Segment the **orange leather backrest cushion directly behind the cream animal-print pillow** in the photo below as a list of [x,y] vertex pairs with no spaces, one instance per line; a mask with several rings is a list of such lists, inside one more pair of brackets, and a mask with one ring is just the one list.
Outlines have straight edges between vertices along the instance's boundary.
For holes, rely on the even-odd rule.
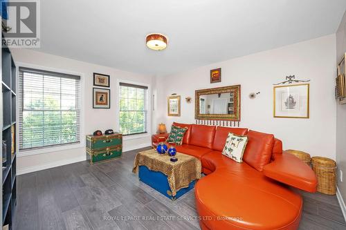
[[248,129],[217,126],[214,142],[212,142],[212,149],[222,151],[226,144],[228,133],[234,133],[235,135],[246,135],[246,133],[248,133]]

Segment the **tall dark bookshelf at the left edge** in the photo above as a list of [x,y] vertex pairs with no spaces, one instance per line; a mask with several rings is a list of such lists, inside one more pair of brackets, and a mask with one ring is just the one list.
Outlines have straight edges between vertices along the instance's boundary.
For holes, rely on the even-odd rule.
[[[6,142],[6,163],[2,168],[2,224],[12,229],[17,206],[17,149],[16,149],[16,66],[7,47],[1,48],[1,86],[3,103],[2,140]],[[13,134],[14,133],[14,134]],[[12,148],[14,142],[14,148]],[[3,144],[1,143],[1,153]]]

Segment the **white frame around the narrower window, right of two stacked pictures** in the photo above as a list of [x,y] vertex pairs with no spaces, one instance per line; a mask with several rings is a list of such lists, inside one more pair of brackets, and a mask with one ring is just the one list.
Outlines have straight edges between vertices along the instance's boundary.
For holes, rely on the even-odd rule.
[[128,81],[125,79],[117,79],[116,85],[117,85],[117,91],[118,92],[117,92],[117,96],[116,96],[116,116],[117,116],[116,120],[118,122],[116,122],[116,130],[118,132],[120,132],[120,83],[147,87],[147,95],[146,95],[146,100],[147,100],[147,132],[122,135],[122,139],[123,140],[132,140],[132,139],[138,139],[138,138],[143,138],[143,137],[149,137],[150,133],[152,133],[152,101],[151,101],[152,90],[151,90],[151,86],[149,84],[145,84],[143,82],[132,82],[132,81]]

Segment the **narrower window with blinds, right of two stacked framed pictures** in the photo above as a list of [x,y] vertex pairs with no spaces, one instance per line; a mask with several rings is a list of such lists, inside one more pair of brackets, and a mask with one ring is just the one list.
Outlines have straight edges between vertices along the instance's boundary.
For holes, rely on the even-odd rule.
[[120,82],[119,124],[122,135],[147,133],[147,86]]

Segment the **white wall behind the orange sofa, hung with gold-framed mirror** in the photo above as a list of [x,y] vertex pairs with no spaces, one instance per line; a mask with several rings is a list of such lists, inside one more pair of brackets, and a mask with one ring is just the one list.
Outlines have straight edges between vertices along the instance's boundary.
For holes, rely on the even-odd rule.
[[[335,35],[304,41],[274,50],[230,59],[203,66],[185,73],[158,77],[159,110],[156,122],[167,127],[174,121],[194,123],[194,90],[241,84],[241,126],[255,131],[273,133],[280,138],[284,149],[294,148],[335,159],[336,103],[334,76],[336,75]],[[210,84],[210,69],[222,68],[221,83]],[[286,75],[311,79],[310,118],[288,119],[273,117],[273,83],[282,82]],[[249,93],[260,91],[255,99]],[[181,117],[167,117],[167,95],[181,95]]]

